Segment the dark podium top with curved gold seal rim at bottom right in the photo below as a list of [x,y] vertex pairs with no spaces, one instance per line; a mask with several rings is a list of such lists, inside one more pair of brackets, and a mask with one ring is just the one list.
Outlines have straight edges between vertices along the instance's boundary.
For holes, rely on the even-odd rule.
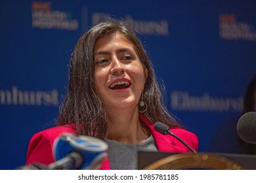
[[256,155],[224,153],[138,152],[138,169],[143,170],[255,170]]

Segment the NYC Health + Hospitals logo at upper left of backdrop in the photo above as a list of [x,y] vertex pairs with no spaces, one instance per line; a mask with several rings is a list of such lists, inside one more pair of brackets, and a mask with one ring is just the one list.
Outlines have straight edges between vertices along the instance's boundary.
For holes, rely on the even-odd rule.
[[70,12],[52,10],[51,2],[33,2],[32,27],[75,31],[79,28],[79,22],[72,17]]

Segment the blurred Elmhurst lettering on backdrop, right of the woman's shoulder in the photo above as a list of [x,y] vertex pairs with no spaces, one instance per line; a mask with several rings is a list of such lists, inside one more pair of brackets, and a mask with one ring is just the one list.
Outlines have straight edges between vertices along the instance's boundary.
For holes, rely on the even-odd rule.
[[198,112],[241,112],[243,97],[212,97],[209,93],[193,96],[186,91],[173,91],[171,92],[171,108]]

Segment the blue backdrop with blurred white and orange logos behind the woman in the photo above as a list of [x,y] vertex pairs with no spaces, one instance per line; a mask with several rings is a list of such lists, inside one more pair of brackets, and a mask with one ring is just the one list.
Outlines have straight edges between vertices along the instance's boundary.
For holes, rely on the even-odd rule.
[[200,152],[240,153],[236,124],[256,74],[256,1],[0,1],[0,169],[54,125],[80,35],[107,16],[140,32],[165,104]]

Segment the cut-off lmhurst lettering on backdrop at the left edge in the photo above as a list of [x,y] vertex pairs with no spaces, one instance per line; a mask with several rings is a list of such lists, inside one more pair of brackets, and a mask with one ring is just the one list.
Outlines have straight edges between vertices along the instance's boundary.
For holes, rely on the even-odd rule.
[[0,90],[0,105],[58,106],[58,90],[28,91],[12,86],[11,90]]

